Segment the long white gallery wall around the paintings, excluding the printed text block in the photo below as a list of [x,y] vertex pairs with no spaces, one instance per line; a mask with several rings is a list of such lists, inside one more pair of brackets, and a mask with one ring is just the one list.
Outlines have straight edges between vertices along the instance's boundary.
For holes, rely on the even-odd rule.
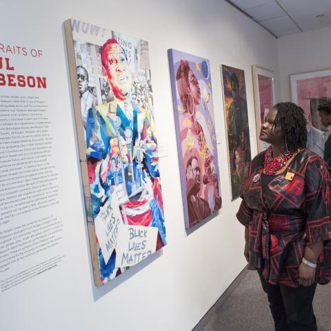
[[[5,3],[6,2],[6,3]],[[1,43],[43,50],[49,91],[58,124],[61,210],[66,219],[66,259],[0,294],[0,330],[191,330],[245,266],[243,227],[230,201],[221,92],[221,63],[245,70],[252,155],[257,152],[251,66],[278,77],[277,40],[221,0],[1,1]],[[152,85],[161,159],[168,245],[112,283],[95,288],[83,199],[63,21],[79,19],[141,39],[150,46]],[[168,70],[168,48],[210,59],[223,208],[187,234],[177,159]],[[279,85],[276,86],[279,99]],[[142,268],[146,266],[146,268]],[[245,300],[245,298],[243,298]]]

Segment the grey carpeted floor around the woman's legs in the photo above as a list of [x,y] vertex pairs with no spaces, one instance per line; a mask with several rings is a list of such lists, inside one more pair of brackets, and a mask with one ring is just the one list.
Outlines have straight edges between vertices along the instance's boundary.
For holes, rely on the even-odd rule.
[[[314,312],[319,331],[331,331],[331,284],[318,285]],[[243,270],[192,331],[273,331],[257,272]]]

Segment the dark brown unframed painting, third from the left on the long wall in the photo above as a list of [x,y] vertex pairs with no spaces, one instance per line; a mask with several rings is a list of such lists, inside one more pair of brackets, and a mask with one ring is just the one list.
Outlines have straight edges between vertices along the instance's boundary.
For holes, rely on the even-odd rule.
[[240,196],[251,160],[243,70],[221,66],[232,200]]

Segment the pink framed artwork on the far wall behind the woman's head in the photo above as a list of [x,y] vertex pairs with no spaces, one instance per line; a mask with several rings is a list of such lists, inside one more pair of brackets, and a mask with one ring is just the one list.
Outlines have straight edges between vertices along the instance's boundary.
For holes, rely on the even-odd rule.
[[321,123],[317,108],[331,101],[331,69],[290,75],[292,101],[305,111],[308,119],[308,148],[323,158],[330,128]]

